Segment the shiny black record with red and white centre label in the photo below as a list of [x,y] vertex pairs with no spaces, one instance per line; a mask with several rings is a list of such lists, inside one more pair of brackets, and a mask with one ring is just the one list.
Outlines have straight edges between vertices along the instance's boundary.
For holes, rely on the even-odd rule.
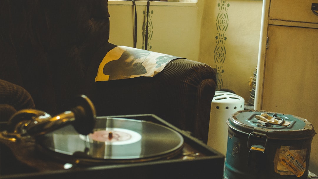
[[38,149],[53,157],[87,162],[139,162],[171,157],[183,147],[176,131],[148,121],[98,119],[93,134],[66,126],[37,139]]

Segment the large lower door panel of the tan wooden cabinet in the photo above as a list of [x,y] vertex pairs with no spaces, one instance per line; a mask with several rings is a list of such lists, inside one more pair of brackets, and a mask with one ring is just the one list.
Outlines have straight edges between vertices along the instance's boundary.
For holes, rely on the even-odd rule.
[[318,29],[268,26],[261,108],[309,121],[318,116]]

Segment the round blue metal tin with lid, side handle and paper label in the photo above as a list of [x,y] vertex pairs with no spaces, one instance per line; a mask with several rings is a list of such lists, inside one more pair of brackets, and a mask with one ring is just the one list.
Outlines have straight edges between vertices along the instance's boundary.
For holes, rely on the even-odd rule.
[[[290,123],[268,124],[257,115],[266,113]],[[290,114],[243,110],[227,120],[225,176],[228,179],[306,179],[315,135],[312,124]]]

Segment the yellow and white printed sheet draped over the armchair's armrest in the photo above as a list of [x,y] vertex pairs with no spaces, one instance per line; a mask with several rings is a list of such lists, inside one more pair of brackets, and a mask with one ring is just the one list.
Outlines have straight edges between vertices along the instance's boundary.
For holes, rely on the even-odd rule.
[[117,46],[110,50],[100,63],[95,81],[140,76],[153,77],[171,60],[179,58],[132,47]]

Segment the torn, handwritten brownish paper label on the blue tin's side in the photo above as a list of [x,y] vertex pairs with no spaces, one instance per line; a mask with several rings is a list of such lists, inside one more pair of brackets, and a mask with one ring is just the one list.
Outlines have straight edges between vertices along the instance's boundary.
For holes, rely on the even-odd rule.
[[289,146],[281,146],[275,155],[275,172],[280,175],[296,175],[301,177],[306,170],[307,149],[290,150]]

